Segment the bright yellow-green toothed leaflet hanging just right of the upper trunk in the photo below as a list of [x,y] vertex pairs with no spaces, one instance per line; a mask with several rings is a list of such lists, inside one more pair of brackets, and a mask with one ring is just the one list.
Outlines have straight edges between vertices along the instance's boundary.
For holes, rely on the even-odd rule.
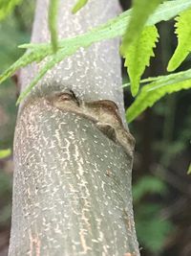
[[154,57],[153,48],[158,41],[158,30],[155,26],[145,27],[138,38],[125,51],[125,66],[131,81],[132,95],[138,94],[139,81],[146,66],[149,66],[150,58]]

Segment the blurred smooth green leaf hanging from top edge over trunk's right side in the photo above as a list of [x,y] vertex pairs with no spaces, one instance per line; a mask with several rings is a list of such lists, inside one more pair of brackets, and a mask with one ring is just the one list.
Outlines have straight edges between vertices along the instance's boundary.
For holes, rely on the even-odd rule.
[[128,51],[128,47],[131,43],[141,34],[150,14],[157,9],[161,2],[162,0],[133,0],[131,19],[120,47],[120,52],[123,56],[125,52]]

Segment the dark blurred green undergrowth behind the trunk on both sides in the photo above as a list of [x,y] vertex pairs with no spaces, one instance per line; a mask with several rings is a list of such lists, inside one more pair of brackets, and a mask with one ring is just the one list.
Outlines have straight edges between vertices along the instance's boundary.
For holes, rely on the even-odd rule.
[[[121,0],[124,10],[131,2]],[[30,41],[34,0],[25,0],[0,23],[0,74],[19,58],[17,45]],[[158,25],[156,58],[144,77],[165,75],[177,38],[174,21]],[[180,70],[190,68],[186,58]],[[127,82],[123,69],[123,81]],[[0,150],[12,149],[18,89],[13,80],[0,86]],[[125,106],[134,101],[124,89]],[[164,97],[130,124],[137,145],[133,170],[135,221],[142,256],[191,255],[191,91]],[[12,156],[0,159],[0,256],[8,254],[11,228]]]

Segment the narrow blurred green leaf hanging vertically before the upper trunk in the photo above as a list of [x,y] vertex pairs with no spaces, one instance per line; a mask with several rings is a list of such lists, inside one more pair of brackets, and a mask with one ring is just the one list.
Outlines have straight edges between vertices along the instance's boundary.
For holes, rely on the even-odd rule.
[[58,10],[58,0],[51,0],[49,7],[49,30],[51,32],[51,41],[53,46],[53,52],[57,51],[57,10]]

